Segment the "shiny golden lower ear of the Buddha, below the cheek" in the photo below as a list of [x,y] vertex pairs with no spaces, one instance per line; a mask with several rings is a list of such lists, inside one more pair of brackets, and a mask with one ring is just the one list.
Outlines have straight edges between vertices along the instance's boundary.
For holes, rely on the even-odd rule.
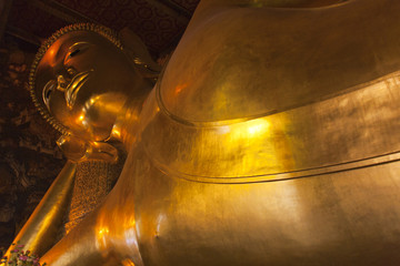
[[72,135],[62,135],[57,141],[67,158],[73,162],[99,160],[108,163],[118,161],[118,150],[106,142],[88,142]]

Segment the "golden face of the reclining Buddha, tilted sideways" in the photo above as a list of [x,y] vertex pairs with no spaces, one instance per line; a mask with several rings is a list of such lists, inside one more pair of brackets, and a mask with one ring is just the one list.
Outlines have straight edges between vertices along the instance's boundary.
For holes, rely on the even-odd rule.
[[140,80],[108,39],[72,31],[60,37],[39,62],[36,93],[72,134],[102,141],[109,137],[127,95],[139,90]]

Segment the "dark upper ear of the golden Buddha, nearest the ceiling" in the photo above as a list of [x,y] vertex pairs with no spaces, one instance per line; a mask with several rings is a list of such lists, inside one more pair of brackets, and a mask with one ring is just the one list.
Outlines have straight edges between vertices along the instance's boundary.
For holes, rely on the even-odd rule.
[[161,66],[156,63],[144,43],[129,28],[119,32],[119,39],[128,58],[134,63],[139,72],[149,79],[156,79],[160,74]]

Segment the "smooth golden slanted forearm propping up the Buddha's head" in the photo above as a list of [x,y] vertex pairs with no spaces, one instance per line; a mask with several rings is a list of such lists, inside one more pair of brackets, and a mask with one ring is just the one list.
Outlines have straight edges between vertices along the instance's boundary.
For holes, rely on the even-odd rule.
[[[17,235],[14,243],[24,245],[23,249],[43,255],[56,242],[57,233],[62,225],[64,211],[70,202],[73,186],[76,163],[67,162],[46,193],[28,222]],[[10,255],[10,247],[7,256]]]

